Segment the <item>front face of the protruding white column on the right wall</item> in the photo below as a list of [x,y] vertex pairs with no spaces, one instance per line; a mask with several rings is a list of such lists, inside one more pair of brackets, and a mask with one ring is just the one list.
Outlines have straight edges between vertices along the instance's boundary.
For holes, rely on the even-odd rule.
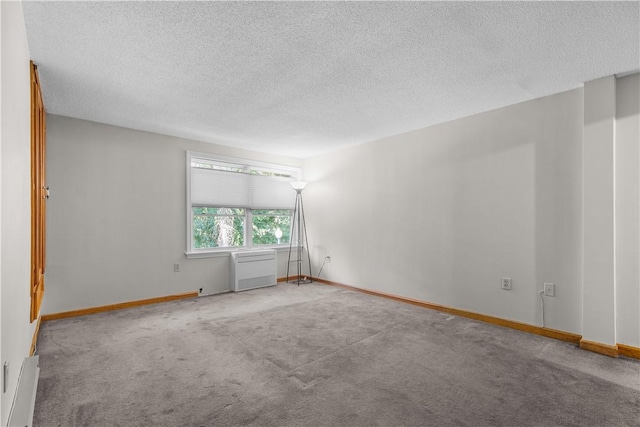
[[616,344],[615,289],[616,79],[584,86],[582,339]]

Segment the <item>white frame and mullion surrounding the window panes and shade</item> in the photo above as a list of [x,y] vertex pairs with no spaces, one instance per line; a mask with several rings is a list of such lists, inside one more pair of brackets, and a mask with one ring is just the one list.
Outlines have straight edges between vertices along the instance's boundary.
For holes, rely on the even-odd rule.
[[[262,162],[258,160],[242,159],[238,157],[219,156],[211,153],[202,153],[195,151],[186,151],[186,252],[187,258],[211,258],[219,256],[228,256],[231,252],[252,250],[252,249],[276,249],[279,251],[288,250],[290,243],[281,243],[273,245],[253,245],[253,210],[248,207],[225,206],[227,208],[243,208],[244,216],[244,246],[233,246],[223,248],[195,248],[193,245],[193,204],[191,202],[191,163],[193,159],[201,159],[217,164],[229,164],[233,168],[260,169],[271,172],[286,172],[290,174],[292,181],[300,181],[302,179],[302,169],[296,166],[281,165],[277,163]],[[295,201],[295,192],[291,190],[291,215],[293,216],[293,204]],[[262,210],[262,209],[257,209]],[[297,246],[296,246],[297,247]]]

